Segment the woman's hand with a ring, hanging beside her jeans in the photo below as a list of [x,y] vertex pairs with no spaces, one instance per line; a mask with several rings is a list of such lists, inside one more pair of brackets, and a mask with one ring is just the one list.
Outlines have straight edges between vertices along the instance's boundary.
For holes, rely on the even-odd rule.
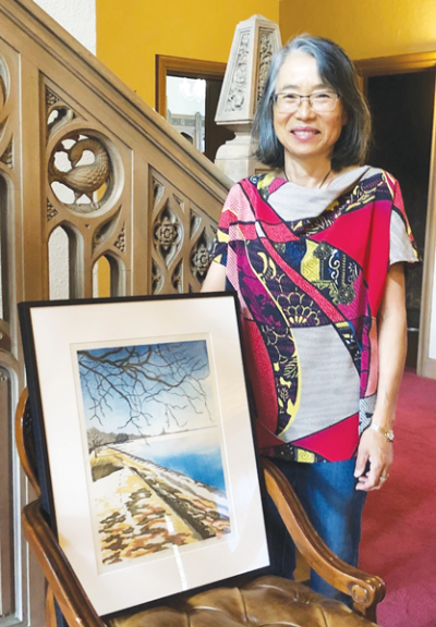
[[[354,477],[359,477],[356,490],[379,490],[387,478],[393,460],[393,447],[383,433],[366,429],[358,450]],[[367,463],[370,469],[366,471]]]

